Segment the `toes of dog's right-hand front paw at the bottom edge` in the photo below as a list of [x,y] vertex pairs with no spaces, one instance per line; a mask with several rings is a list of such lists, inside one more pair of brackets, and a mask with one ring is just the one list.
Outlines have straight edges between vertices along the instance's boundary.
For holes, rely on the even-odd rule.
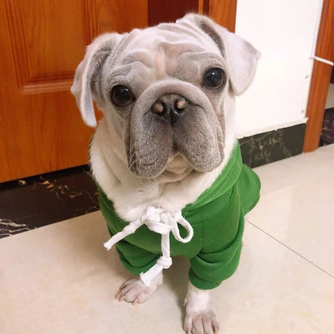
[[216,334],[219,324],[213,310],[186,312],[184,331],[186,334]]

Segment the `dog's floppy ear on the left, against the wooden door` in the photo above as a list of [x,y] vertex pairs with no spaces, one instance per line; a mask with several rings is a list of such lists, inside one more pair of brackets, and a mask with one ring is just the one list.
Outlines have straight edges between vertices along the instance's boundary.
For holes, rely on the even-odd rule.
[[[97,74],[102,69],[106,57],[111,54],[113,47],[120,40],[118,33],[104,33],[95,38],[92,44],[88,45],[84,60],[78,65],[75,71],[71,93],[77,100],[77,105],[86,125],[96,126],[96,118],[93,107],[95,81]],[[96,93],[96,92],[95,92]]]

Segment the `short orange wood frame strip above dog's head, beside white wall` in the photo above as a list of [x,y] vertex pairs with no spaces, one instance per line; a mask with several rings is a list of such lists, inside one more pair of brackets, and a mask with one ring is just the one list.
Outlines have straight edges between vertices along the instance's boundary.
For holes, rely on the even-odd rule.
[[209,17],[229,31],[235,31],[237,0],[210,0]]

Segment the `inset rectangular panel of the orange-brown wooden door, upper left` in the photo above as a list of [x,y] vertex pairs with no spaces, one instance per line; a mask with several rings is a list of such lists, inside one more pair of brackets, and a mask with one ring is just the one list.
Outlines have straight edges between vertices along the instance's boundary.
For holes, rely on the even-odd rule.
[[56,6],[56,2],[22,1],[17,6],[15,1],[4,1],[15,78],[23,94],[69,88],[81,46],[87,42],[82,34],[71,38],[71,52],[64,57],[68,40],[62,36],[81,26],[81,17],[74,15],[67,21],[63,11],[81,12],[82,8],[74,1],[63,1],[61,6]]

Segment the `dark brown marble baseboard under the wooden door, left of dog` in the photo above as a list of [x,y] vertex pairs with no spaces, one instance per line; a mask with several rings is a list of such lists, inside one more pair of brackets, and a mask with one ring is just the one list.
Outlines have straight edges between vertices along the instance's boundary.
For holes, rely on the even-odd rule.
[[0,237],[97,211],[88,166],[0,184]]

